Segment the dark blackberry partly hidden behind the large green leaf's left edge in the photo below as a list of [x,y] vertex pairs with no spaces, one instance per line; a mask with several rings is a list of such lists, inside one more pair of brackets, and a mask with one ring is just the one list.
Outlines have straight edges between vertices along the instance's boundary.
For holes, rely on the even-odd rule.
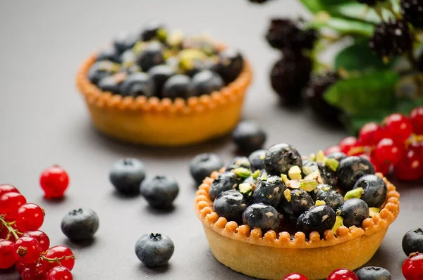
[[321,118],[321,120],[333,125],[341,125],[339,116],[342,111],[329,104],[323,96],[326,90],[338,79],[339,75],[334,72],[326,73],[326,75],[314,76],[305,91],[305,99],[312,108],[314,114]]

